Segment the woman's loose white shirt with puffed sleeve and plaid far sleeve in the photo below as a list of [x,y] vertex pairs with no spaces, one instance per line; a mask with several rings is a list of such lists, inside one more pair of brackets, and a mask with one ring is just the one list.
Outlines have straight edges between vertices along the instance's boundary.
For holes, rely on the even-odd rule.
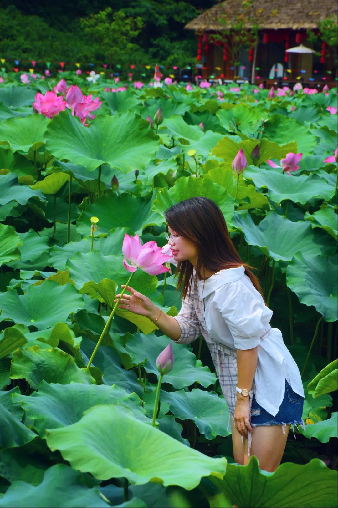
[[[204,281],[199,280],[197,289],[199,302],[196,302],[196,297],[194,302],[194,297],[190,296],[175,316],[182,332],[184,330],[178,342],[192,342],[203,331],[203,327],[197,330],[196,320],[202,324],[201,302],[204,300],[207,334],[203,333],[203,336],[207,342],[211,340],[223,344],[232,351],[258,346],[253,385],[258,404],[275,416],[284,398],[285,379],[296,393],[304,397],[297,364],[283,342],[281,331],[271,328],[269,323],[273,312],[245,275],[244,267],[220,270]],[[193,306],[196,313],[189,323],[188,316]]]

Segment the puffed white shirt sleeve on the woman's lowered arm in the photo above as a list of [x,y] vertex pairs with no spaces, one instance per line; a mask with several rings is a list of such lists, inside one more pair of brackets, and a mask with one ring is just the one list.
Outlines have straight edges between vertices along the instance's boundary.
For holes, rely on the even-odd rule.
[[217,307],[239,350],[256,347],[267,331],[262,323],[264,301],[241,281],[226,284],[217,295]]

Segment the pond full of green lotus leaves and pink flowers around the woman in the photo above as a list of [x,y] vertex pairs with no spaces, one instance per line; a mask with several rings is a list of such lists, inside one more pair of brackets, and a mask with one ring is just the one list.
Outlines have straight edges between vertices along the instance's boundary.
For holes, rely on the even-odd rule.
[[[0,506],[336,506],[337,89],[26,81],[0,83]],[[163,247],[164,211],[194,196],[220,206],[302,373],[306,430],[274,473],[234,463],[201,339],[172,344],[152,426],[171,341],[125,309],[105,329],[125,235]],[[132,285],[179,311],[174,275]]]

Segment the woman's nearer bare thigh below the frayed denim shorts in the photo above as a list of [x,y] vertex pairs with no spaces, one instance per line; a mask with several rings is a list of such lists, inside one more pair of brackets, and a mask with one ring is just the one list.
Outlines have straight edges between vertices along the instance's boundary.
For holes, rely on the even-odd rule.
[[[281,463],[290,425],[286,425],[284,430],[285,434],[282,425],[253,427],[250,455],[256,455],[259,467],[264,471],[273,472]],[[248,440],[244,439],[244,443],[244,465],[246,465],[249,462]]]

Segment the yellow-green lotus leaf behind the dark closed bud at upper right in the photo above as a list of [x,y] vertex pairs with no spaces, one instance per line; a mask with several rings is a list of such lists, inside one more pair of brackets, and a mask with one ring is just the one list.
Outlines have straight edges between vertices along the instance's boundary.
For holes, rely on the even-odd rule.
[[[251,153],[257,144],[259,147],[260,157],[258,161],[254,162],[251,158]],[[249,166],[255,163],[259,166],[272,157],[282,159],[287,153],[296,152],[297,143],[291,142],[280,146],[279,144],[273,143],[266,138],[263,138],[259,142],[247,139],[245,141],[241,141],[240,143],[235,143],[232,139],[225,137],[217,143],[211,153],[217,157],[222,157],[226,163],[232,163],[240,148],[243,148]]]

